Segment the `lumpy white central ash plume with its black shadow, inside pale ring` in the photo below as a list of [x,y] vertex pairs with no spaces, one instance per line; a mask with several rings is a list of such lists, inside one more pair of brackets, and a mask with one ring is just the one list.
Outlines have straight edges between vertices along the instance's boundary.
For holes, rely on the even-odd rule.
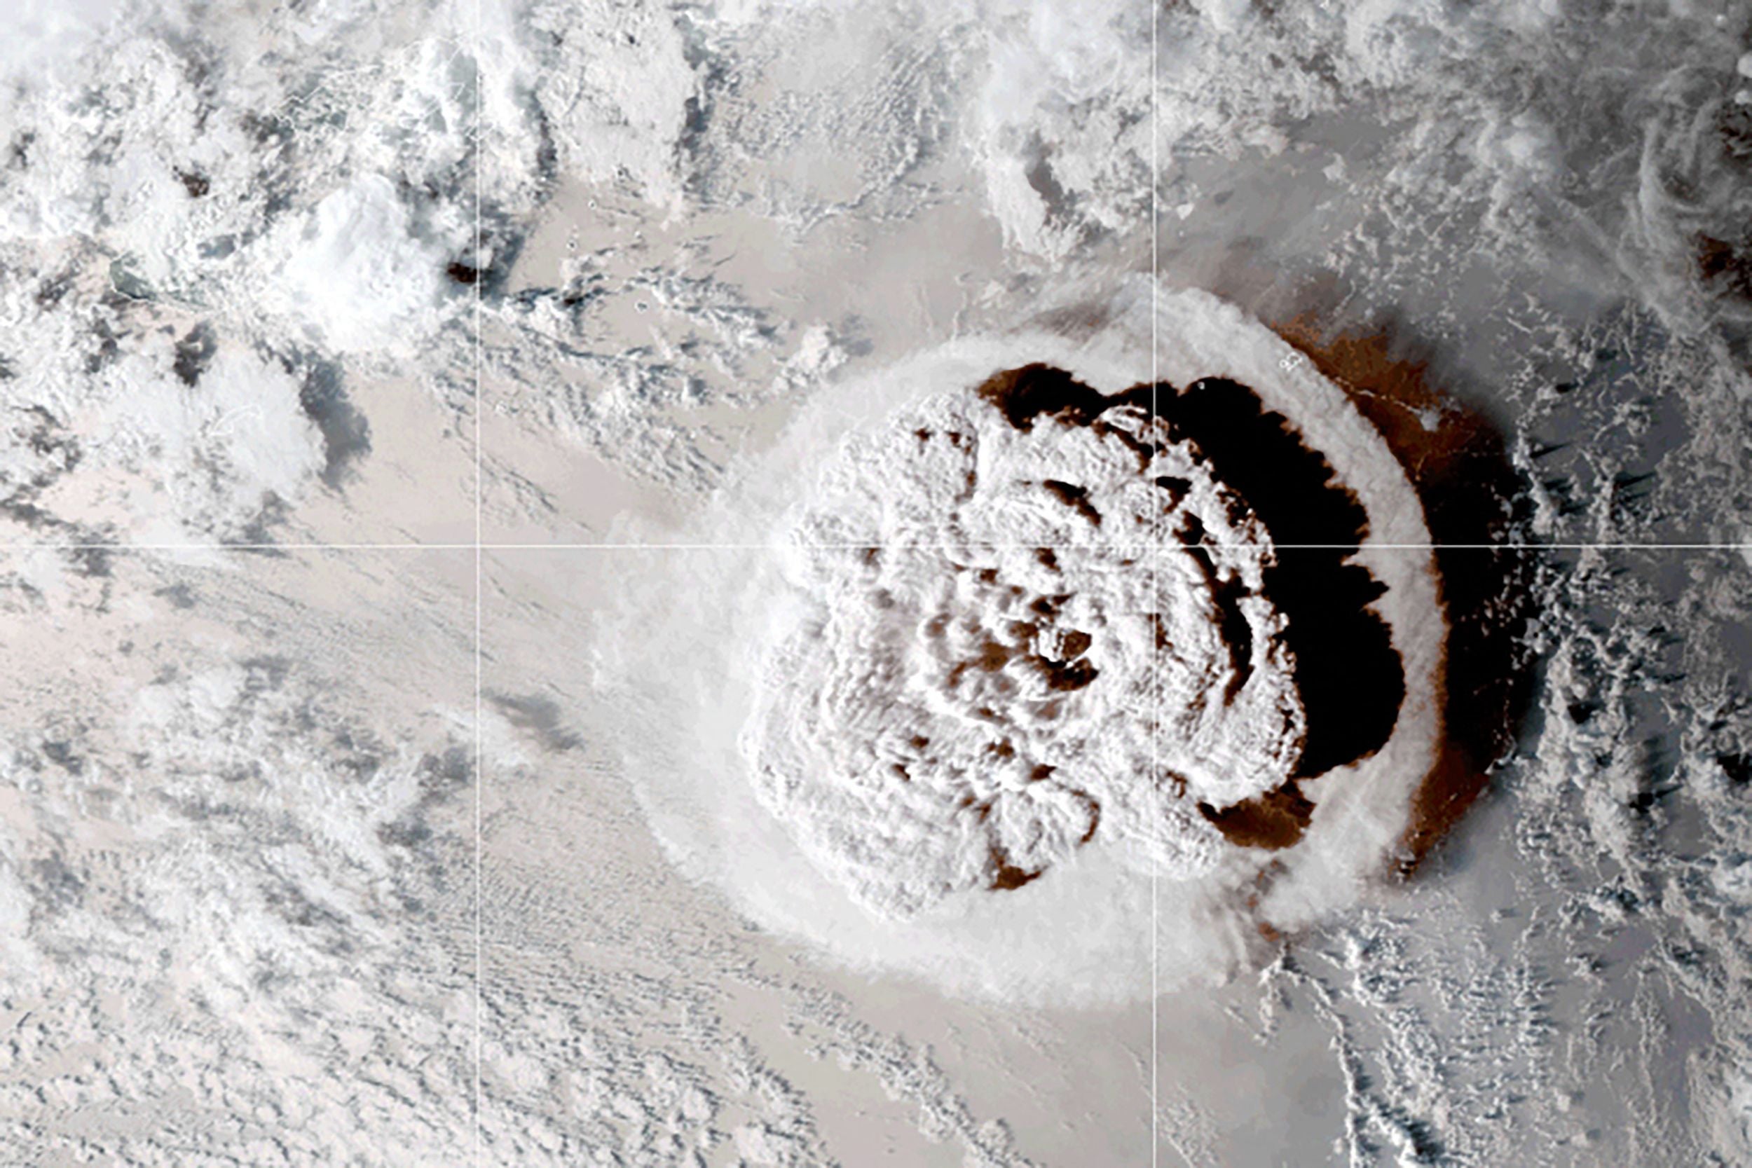
[[934,396],[795,520],[813,602],[767,662],[757,792],[895,918],[1093,844],[1177,879],[1295,844],[1298,781],[1379,749],[1403,697],[1346,562],[1365,527],[1232,380],[1104,396],[1032,364]]

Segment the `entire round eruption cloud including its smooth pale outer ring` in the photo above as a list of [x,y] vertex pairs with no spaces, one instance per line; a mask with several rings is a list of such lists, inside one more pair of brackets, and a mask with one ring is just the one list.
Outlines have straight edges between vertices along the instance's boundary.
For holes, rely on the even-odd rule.
[[671,856],[853,967],[1041,1002],[1219,975],[1426,846],[1430,776],[1461,806],[1377,424],[1205,294],[1081,329],[823,394],[601,637],[624,723],[678,727],[620,744]]

